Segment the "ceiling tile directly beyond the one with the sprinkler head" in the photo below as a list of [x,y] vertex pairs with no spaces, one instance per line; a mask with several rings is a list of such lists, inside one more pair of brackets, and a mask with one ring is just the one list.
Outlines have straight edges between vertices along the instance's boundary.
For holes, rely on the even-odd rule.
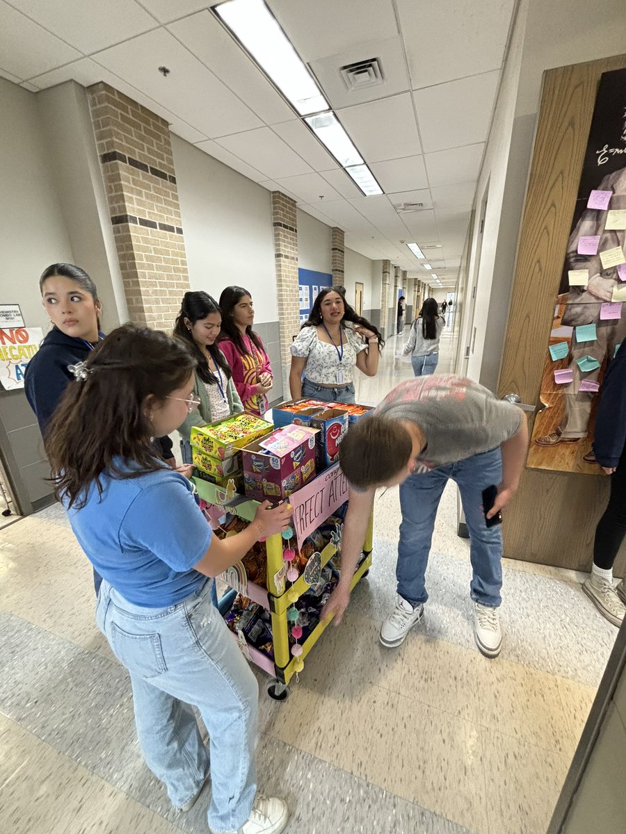
[[270,128],[222,136],[218,144],[244,162],[265,173],[264,179],[295,177],[311,173],[311,168]]

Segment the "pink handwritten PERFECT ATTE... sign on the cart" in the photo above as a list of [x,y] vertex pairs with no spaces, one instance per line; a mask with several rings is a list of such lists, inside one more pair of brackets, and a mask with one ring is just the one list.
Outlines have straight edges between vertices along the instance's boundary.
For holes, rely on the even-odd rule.
[[301,548],[305,538],[348,500],[349,489],[346,475],[339,464],[335,464],[289,496],[298,547]]

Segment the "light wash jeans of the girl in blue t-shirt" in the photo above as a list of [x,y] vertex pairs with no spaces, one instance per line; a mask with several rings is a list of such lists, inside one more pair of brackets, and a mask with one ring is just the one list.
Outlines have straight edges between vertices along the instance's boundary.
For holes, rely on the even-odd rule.
[[193,704],[210,735],[209,825],[236,831],[255,799],[259,688],[211,601],[212,585],[178,605],[144,608],[103,581],[96,621],[130,673],[139,743],[172,804],[189,801],[209,771]]

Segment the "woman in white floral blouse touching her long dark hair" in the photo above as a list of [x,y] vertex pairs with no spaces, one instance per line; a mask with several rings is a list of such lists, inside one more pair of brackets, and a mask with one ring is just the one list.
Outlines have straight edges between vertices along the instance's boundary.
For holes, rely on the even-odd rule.
[[343,287],[325,287],[291,344],[291,396],[354,403],[354,369],[376,376],[383,344],[379,330],[348,304]]

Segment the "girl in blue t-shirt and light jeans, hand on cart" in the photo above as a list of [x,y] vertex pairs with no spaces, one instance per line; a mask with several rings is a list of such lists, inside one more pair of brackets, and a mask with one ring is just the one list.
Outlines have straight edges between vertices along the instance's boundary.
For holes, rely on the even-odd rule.
[[57,493],[103,576],[96,620],[133,686],[145,760],[178,808],[209,774],[194,712],[210,735],[210,830],[278,834],[285,802],[255,796],[258,687],[210,599],[212,577],[284,530],[289,505],[260,505],[246,530],[213,536],[188,480],[152,439],[196,407],[195,359],[155,330],[119,327],[73,367],[46,446]]

